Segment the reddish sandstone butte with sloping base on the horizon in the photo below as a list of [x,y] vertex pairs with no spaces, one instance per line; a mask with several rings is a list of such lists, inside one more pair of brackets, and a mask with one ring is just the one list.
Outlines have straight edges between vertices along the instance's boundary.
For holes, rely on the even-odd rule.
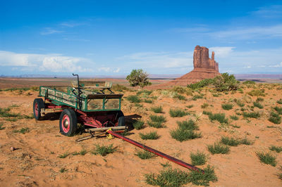
[[209,58],[209,49],[207,47],[195,47],[193,65],[194,70],[169,82],[169,84],[187,86],[188,84],[199,82],[202,79],[211,79],[220,75],[219,63],[216,63],[214,60],[214,51],[212,51],[212,59]]

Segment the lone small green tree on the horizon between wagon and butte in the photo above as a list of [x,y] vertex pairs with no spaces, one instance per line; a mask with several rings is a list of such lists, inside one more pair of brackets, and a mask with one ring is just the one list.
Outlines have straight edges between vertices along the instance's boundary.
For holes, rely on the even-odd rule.
[[147,72],[143,72],[143,70],[132,70],[130,75],[126,77],[130,86],[140,86],[143,88],[144,86],[149,86],[152,83],[149,82],[149,77]]

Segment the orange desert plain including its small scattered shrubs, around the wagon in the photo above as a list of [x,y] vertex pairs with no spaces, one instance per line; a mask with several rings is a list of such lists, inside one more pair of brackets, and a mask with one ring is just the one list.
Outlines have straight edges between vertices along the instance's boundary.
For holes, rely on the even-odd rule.
[[[124,79],[111,81],[113,90],[124,94],[121,110],[130,127],[126,137],[188,163],[190,153],[204,153],[207,162],[197,167],[214,168],[217,180],[210,181],[210,186],[282,186],[282,152],[270,150],[271,146],[282,146],[282,124],[269,121],[271,112],[278,112],[274,108],[282,108],[281,83],[241,83],[240,90],[219,92],[209,86],[196,90],[179,86],[154,89],[154,85],[166,80],[153,80],[150,90],[133,89]],[[32,117],[32,103],[38,98],[37,87],[68,83],[67,79],[0,79],[1,186],[150,186],[147,174],[159,174],[166,169],[190,172],[162,157],[141,159],[137,156],[140,148],[118,138],[109,140],[102,136],[76,142],[87,134],[60,134],[59,114],[36,121]],[[132,96],[138,101],[128,99]],[[224,109],[226,104],[231,105],[228,110]],[[153,111],[156,107],[162,108],[161,113]],[[172,117],[171,110],[184,114]],[[226,121],[211,120],[211,113],[224,114]],[[257,115],[246,115],[250,113]],[[165,118],[161,128],[149,126],[152,115]],[[136,120],[144,122],[142,129],[134,128]],[[173,138],[171,132],[178,128],[178,123],[189,120],[195,122],[195,132],[200,136],[185,141]],[[140,133],[149,132],[157,132],[159,137],[140,137]],[[208,147],[221,142],[222,137],[247,139],[250,145],[228,146],[228,153],[212,154]],[[111,144],[114,153],[93,154],[97,145]],[[276,164],[261,162],[258,153],[269,153]]]

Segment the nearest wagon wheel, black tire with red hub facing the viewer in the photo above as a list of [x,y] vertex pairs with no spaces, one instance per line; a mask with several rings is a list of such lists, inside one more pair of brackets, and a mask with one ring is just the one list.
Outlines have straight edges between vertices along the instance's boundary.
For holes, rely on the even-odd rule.
[[78,129],[78,119],[75,111],[72,109],[65,109],[60,116],[60,132],[65,136],[73,136]]

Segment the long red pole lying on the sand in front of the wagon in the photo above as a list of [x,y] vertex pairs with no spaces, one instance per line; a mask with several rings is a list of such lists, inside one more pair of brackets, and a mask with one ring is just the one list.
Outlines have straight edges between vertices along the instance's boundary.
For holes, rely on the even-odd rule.
[[127,141],[129,143],[132,143],[134,146],[137,146],[139,148],[142,148],[142,149],[145,149],[151,153],[154,153],[156,155],[159,155],[160,157],[164,157],[166,158],[167,160],[170,160],[171,162],[174,162],[182,167],[185,167],[185,168],[188,168],[188,169],[191,169],[191,170],[194,170],[194,171],[197,171],[197,172],[202,172],[204,174],[204,171],[200,168],[197,168],[193,165],[189,165],[188,163],[186,162],[183,162],[182,160],[178,160],[177,158],[175,157],[171,157],[170,155],[166,155],[165,153],[161,153],[159,150],[155,150],[153,148],[149,148],[148,146],[145,146],[141,143],[138,143],[137,141],[133,141],[132,139],[130,138],[126,138],[125,136],[121,136],[121,134],[117,134],[116,132],[114,131],[111,131],[110,129],[106,131],[107,133],[113,135],[113,136],[116,136],[117,138],[121,138],[123,139],[124,141]]

